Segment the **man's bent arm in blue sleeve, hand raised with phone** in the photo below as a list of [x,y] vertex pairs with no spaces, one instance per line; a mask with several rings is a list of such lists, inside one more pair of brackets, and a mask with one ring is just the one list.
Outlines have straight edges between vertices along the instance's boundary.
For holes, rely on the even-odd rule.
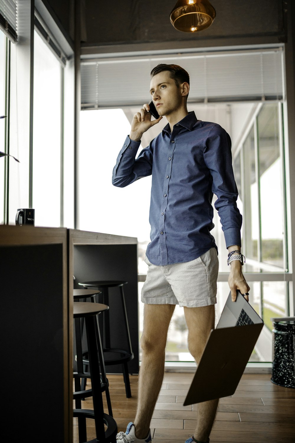
[[144,105],[140,112],[134,115],[130,135],[126,138],[113,169],[112,183],[114,186],[125,187],[152,173],[153,149],[151,144],[143,149],[138,158],[135,159],[142,134],[162,118],[151,121],[151,114],[148,113],[148,109],[149,105]]

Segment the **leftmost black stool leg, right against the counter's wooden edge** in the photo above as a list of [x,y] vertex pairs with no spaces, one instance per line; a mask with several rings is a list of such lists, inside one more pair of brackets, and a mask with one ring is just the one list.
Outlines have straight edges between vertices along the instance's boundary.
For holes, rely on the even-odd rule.
[[[82,343],[81,343],[81,323],[80,319],[74,319],[75,323],[75,341],[77,354],[77,372],[83,372],[83,357],[82,357]],[[83,381],[83,379],[82,379]],[[75,391],[80,391],[80,378],[75,377]],[[75,408],[81,409],[81,399],[75,399]],[[78,417],[79,442],[86,441],[86,418]]]

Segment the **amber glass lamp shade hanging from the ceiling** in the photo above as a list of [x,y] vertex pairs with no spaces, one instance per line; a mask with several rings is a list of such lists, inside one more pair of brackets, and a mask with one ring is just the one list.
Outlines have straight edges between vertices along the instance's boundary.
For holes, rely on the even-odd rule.
[[170,14],[170,21],[178,31],[196,32],[209,27],[216,11],[209,0],[178,0]]

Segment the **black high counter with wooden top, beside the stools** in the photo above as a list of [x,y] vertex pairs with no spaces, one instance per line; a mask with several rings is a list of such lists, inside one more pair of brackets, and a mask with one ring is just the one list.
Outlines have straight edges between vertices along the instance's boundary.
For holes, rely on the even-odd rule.
[[[5,441],[70,443],[73,281],[75,285],[83,280],[128,281],[126,309],[134,350],[130,372],[138,373],[137,239],[0,225],[0,275],[0,350],[6,369],[0,435]],[[110,301],[110,313],[115,309]],[[113,330],[116,334],[116,325]],[[15,427],[8,426],[11,420]]]

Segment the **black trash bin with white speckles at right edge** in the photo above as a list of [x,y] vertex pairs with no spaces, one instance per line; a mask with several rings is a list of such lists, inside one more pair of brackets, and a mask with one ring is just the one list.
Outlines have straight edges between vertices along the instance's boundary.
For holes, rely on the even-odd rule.
[[272,383],[295,388],[295,317],[271,319]]

